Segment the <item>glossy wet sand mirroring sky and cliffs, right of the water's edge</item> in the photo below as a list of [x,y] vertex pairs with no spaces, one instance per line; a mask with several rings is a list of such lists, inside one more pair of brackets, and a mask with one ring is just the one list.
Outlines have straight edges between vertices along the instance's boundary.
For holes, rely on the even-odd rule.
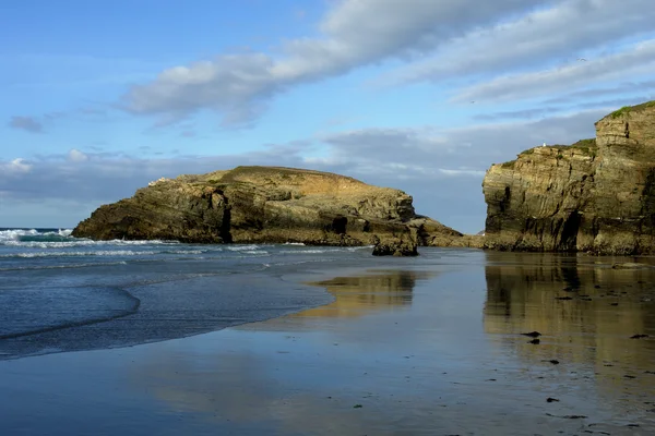
[[289,275],[334,302],[263,323],[0,362],[0,434],[655,434],[654,269],[452,253]]

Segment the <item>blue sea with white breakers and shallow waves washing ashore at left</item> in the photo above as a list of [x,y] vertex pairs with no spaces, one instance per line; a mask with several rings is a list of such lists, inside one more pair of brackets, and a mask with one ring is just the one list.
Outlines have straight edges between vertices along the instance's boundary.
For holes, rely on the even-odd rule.
[[370,246],[92,241],[71,232],[0,228],[0,360],[128,347],[299,312],[332,301],[306,283],[321,271],[385,262]]

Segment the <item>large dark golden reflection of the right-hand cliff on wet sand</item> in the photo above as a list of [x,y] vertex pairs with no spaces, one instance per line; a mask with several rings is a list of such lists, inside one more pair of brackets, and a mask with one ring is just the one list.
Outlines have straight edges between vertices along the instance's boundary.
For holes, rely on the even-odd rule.
[[[590,256],[488,253],[485,330],[533,365],[560,362],[624,407],[653,409],[655,269]],[[521,332],[543,334],[538,344]],[[634,335],[650,338],[631,339]],[[565,365],[565,366],[564,366]]]

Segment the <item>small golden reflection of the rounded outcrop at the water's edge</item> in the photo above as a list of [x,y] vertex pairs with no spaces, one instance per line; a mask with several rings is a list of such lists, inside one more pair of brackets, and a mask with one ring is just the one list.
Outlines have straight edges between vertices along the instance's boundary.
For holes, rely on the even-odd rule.
[[334,296],[331,304],[303,311],[291,317],[356,317],[412,304],[417,280],[433,277],[430,272],[377,270],[361,277],[336,277],[315,284]]

